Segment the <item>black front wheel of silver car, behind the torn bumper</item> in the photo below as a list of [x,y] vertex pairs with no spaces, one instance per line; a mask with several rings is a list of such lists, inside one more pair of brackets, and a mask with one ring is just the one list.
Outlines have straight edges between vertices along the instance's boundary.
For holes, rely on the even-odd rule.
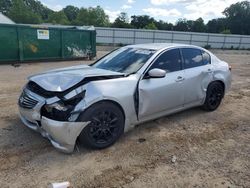
[[121,109],[108,101],[92,105],[78,121],[90,121],[82,130],[79,141],[93,149],[111,146],[124,132],[125,118]]

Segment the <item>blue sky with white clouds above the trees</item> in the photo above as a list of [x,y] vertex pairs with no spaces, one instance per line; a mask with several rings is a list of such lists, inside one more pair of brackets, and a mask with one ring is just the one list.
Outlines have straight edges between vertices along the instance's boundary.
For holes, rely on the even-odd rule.
[[59,11],[67,5],[76,7],[96,7],[100,5],[109,15],[111,22],[121,12],[128,16],[149,15],[156,20],[175,23],[179,18],[205,22],[223,17],[222,12],[240,0],[40,0],[48,8]]

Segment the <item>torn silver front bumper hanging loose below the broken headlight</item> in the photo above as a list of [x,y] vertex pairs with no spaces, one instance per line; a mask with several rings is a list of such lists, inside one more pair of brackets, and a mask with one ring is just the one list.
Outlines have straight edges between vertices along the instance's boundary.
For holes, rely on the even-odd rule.
[[[29,92],[29,94],[38,99],[33,93]],[[41,116],[40,109],[44,103],[44,100],[40,99],[38,104],[32,109],[23,108],[19,105],[22,122],[30,129],[39,132],[43,137],[49,139],[51,144],[59,151],[72,153],[77,137],[89,122],[56,121]]]

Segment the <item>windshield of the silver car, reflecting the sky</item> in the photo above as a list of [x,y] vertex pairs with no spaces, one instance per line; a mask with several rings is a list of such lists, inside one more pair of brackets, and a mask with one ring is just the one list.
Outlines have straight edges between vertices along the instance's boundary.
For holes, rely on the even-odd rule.
[[140,48],[120,48],[98,60],[92,66],[126,74],[137,72],[155,50]]

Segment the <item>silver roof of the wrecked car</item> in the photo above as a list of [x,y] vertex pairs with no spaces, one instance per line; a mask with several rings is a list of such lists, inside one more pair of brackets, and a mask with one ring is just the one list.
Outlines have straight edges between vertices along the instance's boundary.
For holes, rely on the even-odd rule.
[[200,48],[198,46],[188,45],[188,44],[176,44],[176,43],[147,43],[147,44],[134,44],[126,46],[128,48],[142,48],[149,50],[162,50],[172,47],[192,47],[192,48]]

